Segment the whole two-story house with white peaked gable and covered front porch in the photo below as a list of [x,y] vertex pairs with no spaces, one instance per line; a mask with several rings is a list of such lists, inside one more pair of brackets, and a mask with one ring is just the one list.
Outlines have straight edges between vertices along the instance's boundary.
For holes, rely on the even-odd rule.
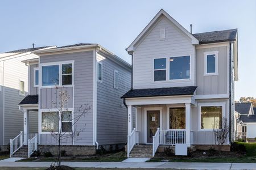
[[[230,149],[237,29],[192,34],[160,10],[126,50],[133,63],[132,89],[122,96],[128,107],[127,156],[154,156],[159,145],[217,148],[213,128],[222,128],[224,120],[230,133],[221,148]],[[148,145],[139,150],[144,155],[135,144]]]

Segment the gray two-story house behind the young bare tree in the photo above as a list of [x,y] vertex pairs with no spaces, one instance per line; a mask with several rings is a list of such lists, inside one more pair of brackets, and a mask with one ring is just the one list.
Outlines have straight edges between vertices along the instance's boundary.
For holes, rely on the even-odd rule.
[[[127,109],[120,98],[131,87],[131,65],[98,44],[75,44],[34,52],[39,58],[23,61],[29,65],[30,86],[28,96],[20,103],[24,121],[30,114],[38,116],[39,147],[56,145],[49,131],[57,131],[60,125],[51,118],[59,113],[56,86],[68,91],[67,115],[76,117],[76,109],[83,104],[90,106],[85,117],[75,124],[81,131],[77,138],[65,138],[62,145],[90,146],[112,145],[115,149],[125,145],[127,139]],[[66,113],[65,113],[66,114]],[[72,133],[73,121],[63,133]],[[24,124],[24,145],[27,145],[31,129]],[[93,154],[94,152],[90,152]],[[69,152],[70,154],[71,152]],[[76,154],[76,153],[74,153]],[[86,154],[84,152],[84,154]]]

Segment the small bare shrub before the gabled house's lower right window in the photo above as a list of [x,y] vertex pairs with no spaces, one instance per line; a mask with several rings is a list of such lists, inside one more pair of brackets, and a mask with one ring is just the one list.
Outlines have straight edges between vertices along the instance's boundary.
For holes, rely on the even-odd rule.
[[219,120],[216,120],[214,122],[213,134],[214,134],[215,144],[223,145],[227,141],[228,135],[229,135],[229,125],[228,125],[228,120],[226,118],[224,118],[222,123]]

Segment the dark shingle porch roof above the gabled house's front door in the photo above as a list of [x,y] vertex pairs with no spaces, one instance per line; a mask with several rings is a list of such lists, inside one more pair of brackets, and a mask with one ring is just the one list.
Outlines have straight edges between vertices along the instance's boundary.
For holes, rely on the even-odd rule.
[[121,98],[193,95],[196,88],[197,86],[134,89],[127,92]]

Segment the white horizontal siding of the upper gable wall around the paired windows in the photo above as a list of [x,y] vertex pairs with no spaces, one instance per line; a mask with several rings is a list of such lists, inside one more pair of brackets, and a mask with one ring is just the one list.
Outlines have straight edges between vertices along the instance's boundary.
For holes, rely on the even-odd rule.
[[[160,39],[162,28],[165,28],[164,39]],[[195,46],[192,45],[191,38],[165,16],[162,16],[135,46],[133,52],[134,89],[195,86]],[[168,80],[169,62],[167,62],[167,80],[154,82],[154,58],[179,56],[190,56],[190,79]]]

